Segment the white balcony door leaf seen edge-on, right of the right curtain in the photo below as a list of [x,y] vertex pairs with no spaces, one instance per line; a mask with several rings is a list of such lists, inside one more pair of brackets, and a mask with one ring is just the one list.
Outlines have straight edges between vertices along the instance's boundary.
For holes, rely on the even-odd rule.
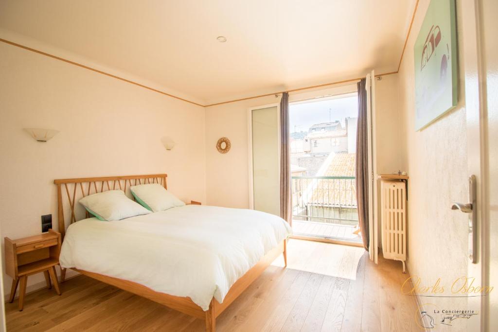
[[368,130],[368,173],[369,173],[369,255],[378,262],[378,218],[377,218],[377,167],[375,148],[375,73],[367,74],[367,130]]

